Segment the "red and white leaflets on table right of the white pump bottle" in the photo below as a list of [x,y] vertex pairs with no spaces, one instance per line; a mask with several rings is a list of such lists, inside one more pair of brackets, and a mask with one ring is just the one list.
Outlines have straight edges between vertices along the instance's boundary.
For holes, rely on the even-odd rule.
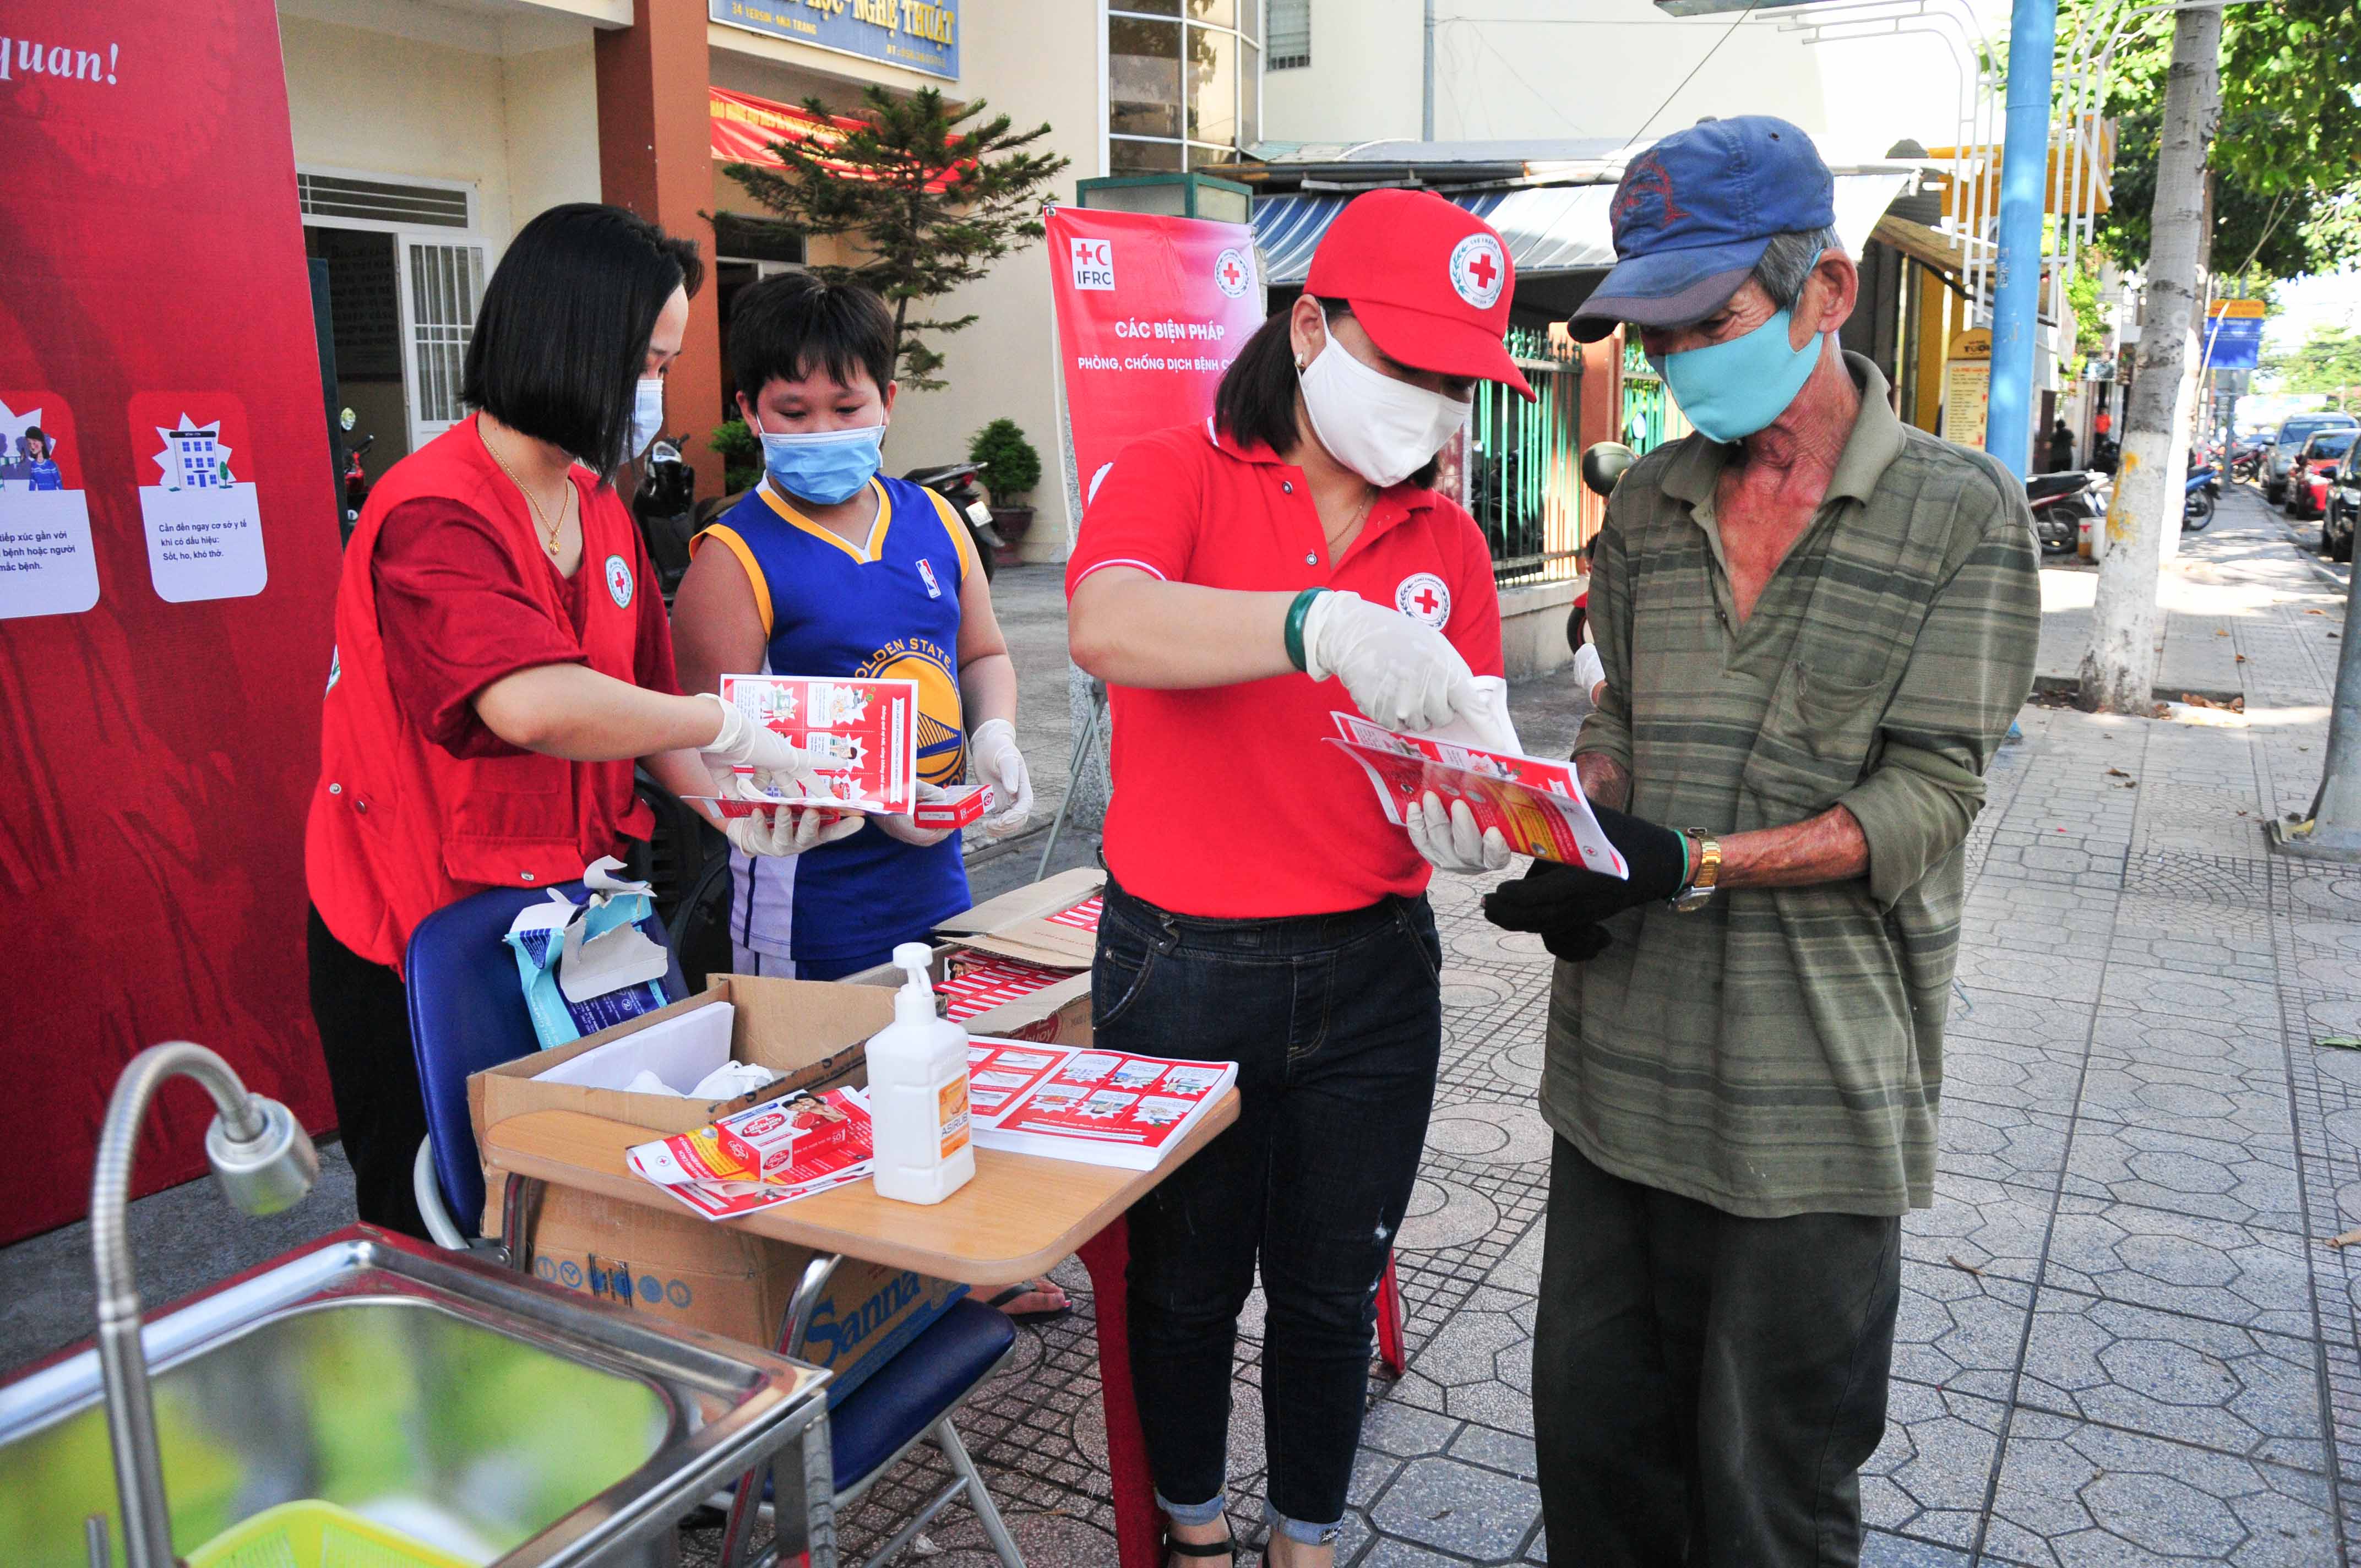
[[1018,1155],[1155,1169],[1237,1082],[1237,1063],[1065,1051],[975,1143]]

